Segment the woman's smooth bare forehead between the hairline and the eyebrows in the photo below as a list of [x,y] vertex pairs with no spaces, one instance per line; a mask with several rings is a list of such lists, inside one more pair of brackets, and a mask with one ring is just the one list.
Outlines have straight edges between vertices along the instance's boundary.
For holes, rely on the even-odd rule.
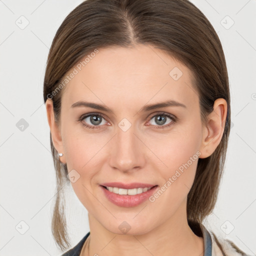
[[123,107],[131,102],[173,99],[189,105],[198,100],[191,84],[192,72],[153,46],[99,48],[84,60],[70,69],[76,74],[62,96],[69,105],[78,100],[121,102]]

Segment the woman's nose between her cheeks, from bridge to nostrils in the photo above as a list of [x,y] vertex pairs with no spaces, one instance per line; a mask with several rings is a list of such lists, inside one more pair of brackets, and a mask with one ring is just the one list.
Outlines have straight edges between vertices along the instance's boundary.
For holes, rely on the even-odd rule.
[[111,140],[110,166],[122,172],[142,168],[145,164],[145,145],[133,125],[127,130],[120,127],[117,127],[116,134]]

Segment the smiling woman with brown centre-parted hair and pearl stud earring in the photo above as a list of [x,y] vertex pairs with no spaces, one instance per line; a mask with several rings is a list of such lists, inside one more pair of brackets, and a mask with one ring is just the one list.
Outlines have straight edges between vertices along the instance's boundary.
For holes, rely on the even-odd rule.
[[88,232],[62,255],[245,255],[202,224],[230,130],[225,57],[187,0],[86,0],[53,39],[44,102],[57,177],[52,233],[70,247],[61,188]]

